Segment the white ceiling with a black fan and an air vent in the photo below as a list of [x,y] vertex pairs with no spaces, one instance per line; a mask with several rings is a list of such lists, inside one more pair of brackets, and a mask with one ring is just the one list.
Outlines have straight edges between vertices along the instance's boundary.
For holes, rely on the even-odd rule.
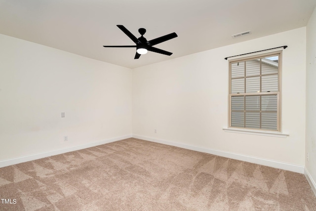
[[[135,68],[304,27],[315,7],[316,0],[0,0],[0,34]],[[137,38],[145,28],[147,40],[176,32],[155,45],[173,54],[134,59],[135,48],[103,47],[134,44],[116,25]]]

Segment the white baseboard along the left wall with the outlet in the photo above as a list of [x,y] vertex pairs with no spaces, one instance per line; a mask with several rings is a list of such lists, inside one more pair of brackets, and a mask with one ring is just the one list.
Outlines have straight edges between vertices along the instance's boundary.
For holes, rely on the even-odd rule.
[[132,137],[132,135],[125,135],[125,136],[100,140],[100,141],[96,141],[96,142],[92,142],[92,143],[86,143],[86,144],[82,144],[82,145],[78,145],[78,146],[68,147],[68,148],[64,148],[64,149],[43,152],[43,153],[39,153],[39,154],[28,155],[28,156],[23,156],[23,157],[8,159],[8,160],[2,160],[2,161],[0,161],[0,168],[15,165],[15,164],[20,164],[20,163],[24,163],[24,162],[28,162],[28,161],[34,161],[34,160],[37,160],[40,158],[46,158],[46,157],[53,156],[53,155],[59,155],[59,154],[66,153],[66,152],[72,152],[72,151],[76,151],[76,150],[80,150],[80,149],[94,147],[94,146],[98,146],[101,144],[107,144],[107,143],[119,141],[119,140],[126,139],[126,138],[131,138],[131,137]]

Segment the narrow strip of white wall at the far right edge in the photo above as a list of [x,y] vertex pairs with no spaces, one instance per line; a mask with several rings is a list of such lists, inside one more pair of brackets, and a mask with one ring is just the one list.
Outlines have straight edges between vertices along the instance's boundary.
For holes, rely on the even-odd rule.
[[306,49],[306,154],[305,160],[316,194],[316,9],[307,25]]

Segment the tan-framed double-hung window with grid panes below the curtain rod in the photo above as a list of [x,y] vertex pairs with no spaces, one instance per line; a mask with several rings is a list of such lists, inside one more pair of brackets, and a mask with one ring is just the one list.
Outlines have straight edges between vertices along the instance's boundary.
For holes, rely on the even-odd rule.
[[280,131],[281,52],[231,60],[229,127]]

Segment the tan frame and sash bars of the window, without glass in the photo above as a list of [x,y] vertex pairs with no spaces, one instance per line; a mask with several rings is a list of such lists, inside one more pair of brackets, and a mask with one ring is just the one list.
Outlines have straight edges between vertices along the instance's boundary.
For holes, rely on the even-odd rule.
[[[232,63],[236,63],[236,62],[245,62],[245,61],[249,61],[249,60],[254,60],[254,59],[260,59],[260,58],[265,58],[265,57],[272,57],[272,56],[278,56],[278,91],[276,92],[259,92],[259,93],[255,93],[255,92],[249,92],[249,93],[234,93],[232,94]],[[246,68],[246,66],[244,67]],[[282,127],[281,127],[281,72],[282,72],[282,50],[278,50],[278,51],[270,51],[267,53],[261,53],[261,54],[254,54],[251,56],[243,56],[243,57],[238,57],[235,59],[229,59],[229,87],[228,87],[228,128],[229,129],[238,129],[238,130],[245,130],[245,131],[251,131],[251,130],[257,130],[257,131],[262,131],[262,132],[281,132],[282,131]],[[261,68],[260,68],[261,70]],[[267,74],[269,75],[269,74]],[[262,77],[261,71],[260,71],[260,80]],[[244,76],[246,79],[246,76]],[[261,82],[260,82],[260,87],[261,87]],[[246,84],[245,84],[246,86]],[[244,90],[246,91],[246,90]],[[276,130],[274,129],[265,129],[265,128],[253,128],[253,127],[232,127],[232,96],[264,96],[264,95],[274,95],[276,94],[277,96],[277,108],[276,108]],[[243,112],[245,113],[246,108],[244,107]],[[262,110],[260,109],[259,111],[260,113],[262,112]],[[261,119],[261,118],[260,118]],[[261,120],[260,120],[261,121]],[[245,120],[244,120],[245,122]]]

